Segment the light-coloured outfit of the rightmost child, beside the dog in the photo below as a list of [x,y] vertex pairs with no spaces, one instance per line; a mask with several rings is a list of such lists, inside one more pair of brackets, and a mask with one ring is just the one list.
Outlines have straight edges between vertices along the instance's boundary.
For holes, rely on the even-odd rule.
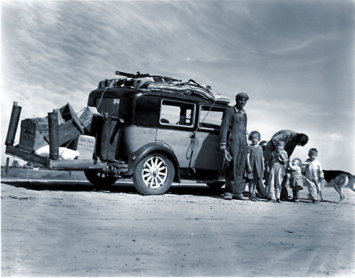
[[321,191],[321,180],[324,180],[324,173],[320,163],[315,159],[311,161],[306,159],[310,165],[303,166],[302,171],[305,175],[305,183],[308,187],[310,199],[312,201],[318,201],[318,193]]

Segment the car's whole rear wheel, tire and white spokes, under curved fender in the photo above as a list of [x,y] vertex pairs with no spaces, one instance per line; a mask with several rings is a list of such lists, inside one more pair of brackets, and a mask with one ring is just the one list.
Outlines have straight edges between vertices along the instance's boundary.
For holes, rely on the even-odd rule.
[[175,175],[172,162],[159,153],[144,157],[133,172],[133,184],[143,195],[161,195],[171,186]]

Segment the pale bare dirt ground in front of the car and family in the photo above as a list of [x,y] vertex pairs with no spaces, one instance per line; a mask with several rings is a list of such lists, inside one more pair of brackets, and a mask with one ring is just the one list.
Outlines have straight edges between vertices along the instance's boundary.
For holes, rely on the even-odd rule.
[[353,276],[355,193],[326,202],[226,201],[174,185],[2,179],[2,276]]

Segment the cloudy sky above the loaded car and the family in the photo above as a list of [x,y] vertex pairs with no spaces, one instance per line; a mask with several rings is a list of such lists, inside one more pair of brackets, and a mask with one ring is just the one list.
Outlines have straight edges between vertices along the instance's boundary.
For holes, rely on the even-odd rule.
[[[115,71],[245,92],[249,131],[309,136],[325,170],[355,173],[354,1],[1,1],[2,164],[12,105],[76,111]],[[16,140],[19,140],[20,123]]]

